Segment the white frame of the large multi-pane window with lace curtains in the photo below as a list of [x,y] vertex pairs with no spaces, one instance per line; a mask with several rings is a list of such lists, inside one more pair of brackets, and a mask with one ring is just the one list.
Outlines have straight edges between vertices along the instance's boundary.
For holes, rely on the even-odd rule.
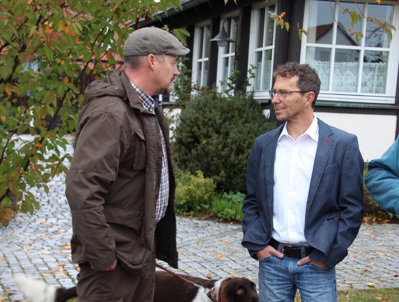
[[[319,0],[323,1],[323,0]],[[342,1],[348,2],[348,1]],[[375,4],[374,1],[362,1],[359,0],[358,3],[361,4]],[[399,27],[399,3],[397,2],[381,2],[381,5],[392,5],[393,12],[392,12],[392,24],[398,28]],[[344,5],[343,5],[344,6]],[[344,6],[345,7],[345,6]],[[367,10],[368,6],[365,6],[365,10]],[[306,0],[305,2],[305,13],[304,13],[304,21],[303,21],[303,29],[308,30],[308,19],[309,19],[309,9],[310,9],[310,0]],[[338,13],[338,5],[336,5],[335,14],[337,16]],[[373,16],[373,14],[368,14],[369,16]],[[340,16],[340,18],[349,18],[349,15]],[[336,18],[337,20],[337,18]],[[385,20],[381,20],[384,22]],[[333,21],[334,22],[334,21]],[[344,29],[345,30],[345,29]],[[363,34],[366,31],[366,21],[362,21],[362,32]],[[394,104],[395,102],[395,94],[396,94],[396,81],[397,81],[397,70],[398,70],[398,63],[399,63],[399,55],[397,49],[399,47],[399,39],[398,34],[396,31],[392,30],[392,41],[390,42],[389,48],[377,48],[377,47],[366,47],[364,46],[365,39],[359,37],[359,45],[358,46],[344,46],[339,45],[339,49],[353,49],[359,50],[360,57],[363,58],[363,52],[367,50],[380,50],[380,51],[389,51],[388,54],[388,61],[387,61],[387,74],[386,74],[386,86],[385,86],[385,93],[377,94],[377,93],[361,93],[361,92],[335,92],[332,91],[332,82],[333,82],[333,75],[332,71],[334,66],[330,68],[330,82],[329,82],[329,91],[321,91],[318,95],[317,100],[323,101],[332,101],[332,102],[361,102],[361,103],[379,103],[379,104]],[[331,49],[331,59],[330,65],[332,61],[334,61],[335,49],[336,49],[336,36],[337,36],[337,24],[336,22],[333,23],[333,42],[331,44],[320,44],[320,43],[307,43],[307,36],[302,35],[302,44],[301,44],[301,55],[300,55],[300,62],[306,62],[306,48],[307,47],[325,47]],[[362,78],[362,66],[363,61],[362,59],[359,64],[359,74],[358,74],[358,82],[360,83]],[[360,84],[358,84],[360,87]]]

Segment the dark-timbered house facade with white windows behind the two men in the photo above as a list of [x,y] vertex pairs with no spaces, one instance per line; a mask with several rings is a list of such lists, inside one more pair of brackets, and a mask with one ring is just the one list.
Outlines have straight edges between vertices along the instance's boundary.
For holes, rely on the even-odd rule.
[[[232,70],[238,70],[236,85],[242,87],[252,69],[255,77],[247,89],[277,121],[268,93],[273,70],[287,61],[308,63],[322,81],[314,115],[356,134],[365,161],[379,158],[399,134],[399,33],[392,30],[390,40],[384,29],[365,21],[377,18],[399,31],[399,2],[185,0],[182,7],[141,26],[168,25],[190,33],[187,44],[192,51],[185,64],[193,82],[224,91]],[[343,14],[346,9],[364,17],[353,29],[349,13]],[[291,26],[288,31],[272,18],[282,13]],[[225,47],[210,41],[222,25],[235,41]],[[298,28],[307,31],[302,39]],[[363,38],[356,43],[347,29],[361,32]]]

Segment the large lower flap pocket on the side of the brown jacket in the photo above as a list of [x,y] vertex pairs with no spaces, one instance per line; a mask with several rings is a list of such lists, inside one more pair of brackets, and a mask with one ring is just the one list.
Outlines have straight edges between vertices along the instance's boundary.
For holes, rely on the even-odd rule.
[[118,259],[139,264],[147,250],[144,210],[104,205],[104,215],[115,240]]

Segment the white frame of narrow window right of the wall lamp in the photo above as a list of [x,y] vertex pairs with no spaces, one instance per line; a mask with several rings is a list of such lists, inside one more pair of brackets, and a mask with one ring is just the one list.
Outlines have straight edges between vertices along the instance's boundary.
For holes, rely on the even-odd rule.
[[[272,50],[272,66],[271,66],[271,74],[270,74],[270,85],[272,85],[272,81],[273,81],[273,77],[272,77],[272,73],[273,73],[273,65],[274,65],[274,51],[275,51],[275,44],[276,44],[276,22],[273,22],[273,43],[270,46],[264,46],[264,47],[256,47],[256,43],[257,43],[257,33],[258,33],[258,26],[259,26],[259,11],[261,9],[266,9],[267,12],[267,8],[270,5],[265,5],[265,4],[261,4],[261,5],[256,5],[253,7],[252,13],[251,13],[251,32],[250,32],[250,46],[249,46],[249,57],[248,57],[248,70],[251,69],[251,65],[255,65],[256,66],[256,52],[262,51],[263,55],[262,55],[262,69],[264,66],[263,60],[265,59],[265,51],[267,50]],[[276,8],[275,8],[276,9]],[[265,17],[267,16],[267,14],[265,14]],[[265,23],[267,24],[267,19],[265,18]],[[263,39],[265,41],[266,39],[266,29],[264,31],[264,36]],[[253,70],[253,72],[256,72],[256,69]],[[264,76],[264,72],[263,70],[261,70],[261,83],[263,83],[263,76]],[[250,77],[250,74],[247,75],[247,77]],[[251,86],[247,87],[247,91],[250,92],[252,90],[255,91],[255,85],[256,85],[256,78],[251,79],[250,81]],[[271,87],[270,87],[271,89]],[[265,100],[265,99],[270,99],[269,97],[269,89],[267,90],[261,90],[261,91],[255,91],[254,93],[254,99],[255,100]]]

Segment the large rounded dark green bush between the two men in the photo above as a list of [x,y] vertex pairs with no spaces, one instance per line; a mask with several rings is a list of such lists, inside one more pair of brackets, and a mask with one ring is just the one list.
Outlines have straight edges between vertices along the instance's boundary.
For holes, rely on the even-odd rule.
[[201,170],[219,192],[246,192],[255,138],[275,127],[253,95],[201,92],[186,102],[174,132],[174,159],[192,174]]

